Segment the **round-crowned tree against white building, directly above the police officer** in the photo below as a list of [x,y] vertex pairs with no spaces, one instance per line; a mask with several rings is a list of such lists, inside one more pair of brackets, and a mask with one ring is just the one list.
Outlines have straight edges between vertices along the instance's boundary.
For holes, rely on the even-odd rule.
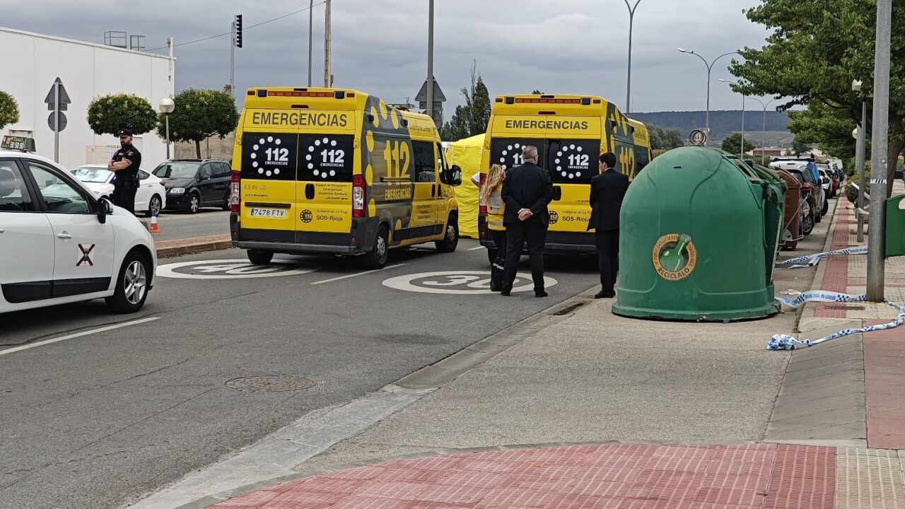
[[148,101],[136,95],[105,95],[88,105],[88,125],[95,134],[116,136],[121,129],[144,134],[157,127],[157,112]]

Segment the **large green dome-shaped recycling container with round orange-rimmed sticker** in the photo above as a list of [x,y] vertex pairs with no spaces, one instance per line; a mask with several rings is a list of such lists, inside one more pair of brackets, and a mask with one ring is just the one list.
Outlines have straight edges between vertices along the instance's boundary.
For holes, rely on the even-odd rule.
[[784,188],[735,156],[673,149],[634,178],[621,213],[616,314],[725,321],[779,312]]

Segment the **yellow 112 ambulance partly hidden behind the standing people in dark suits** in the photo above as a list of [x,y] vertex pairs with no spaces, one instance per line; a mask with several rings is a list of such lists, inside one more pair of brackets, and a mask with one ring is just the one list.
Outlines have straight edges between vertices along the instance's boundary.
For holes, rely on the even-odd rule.
[[[492,164],[521,164],[521,149],[538,148],[541,168],[550,173],[554,199],[549,205],[547,251],[595,253],[588,197],[598,158],[613,152],[616,169],[634,178],[651,161],[651,141],[644,124],[629,119],[612,102],[593,95],[503,95],[493,102],[484,138],[481,173]],[[478,235],[492,260],[497,246],[487,233],[487,209],[478,214]]]

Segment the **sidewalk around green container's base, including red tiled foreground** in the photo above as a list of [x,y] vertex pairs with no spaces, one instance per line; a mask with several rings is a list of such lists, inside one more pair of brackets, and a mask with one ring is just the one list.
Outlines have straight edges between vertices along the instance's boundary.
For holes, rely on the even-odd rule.
[[[839,205],[834,217],[843,225],[847,204]],[[833,245],[826,233],[838,227],[828,219],[781,258]],[[779,271],[776,291],[821,287],[828,267],[820,265],[816,282],[813,268]],[[872,404],[891,405],[891,391],[905,389],[896,372],[905,357],[892,357],[905,353],[883,360],[861,336],[767,351],[771,335],[797,331],[795,312],[725,324],[638,321],[589,294],[521,329],[516,341],[473,347],[485,358],[470,370],[428,367],[387,387],[419,397],[292,466],[280,479],[288,482],[171,506],[905,507],[905,457],[868,448],[895,445],[868,430],[887,429],[871,424]],[[809,337],[852,321],[808,320]],[[895,343],[881,342],[883,352],[898,352]],[[887,377],[878,383],[893,385],[877,393],[885,399],[867,390],[865,401],[872,366]],[[892,422],[895,408],[875,407],[891,408],[873,414],[886,419],[877,421],[886,435],[905,429]],[[275,471],[261,458],[234,459]]]

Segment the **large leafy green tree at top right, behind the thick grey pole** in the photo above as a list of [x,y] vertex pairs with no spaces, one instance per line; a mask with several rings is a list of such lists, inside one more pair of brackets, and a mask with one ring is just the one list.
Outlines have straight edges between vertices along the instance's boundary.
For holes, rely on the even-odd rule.
[[[897,0],[892,9],[893,26],[905,26],[905,2]],[[773,33],[763,48],[745,48],[744,62],[730,65],[740,79],[738,91],[792,98],[786,109],[818,104],[860,120],[862,95],[852,91],[852,81],[863,81],[863,96],[872,92],[874,2],[838,0],[831,8],[826,0],[761,0],[746,15]],[[905,148],[905,31],[893,30],[891,50],[890,109],[884,112],[890,120],[887,195]]]

